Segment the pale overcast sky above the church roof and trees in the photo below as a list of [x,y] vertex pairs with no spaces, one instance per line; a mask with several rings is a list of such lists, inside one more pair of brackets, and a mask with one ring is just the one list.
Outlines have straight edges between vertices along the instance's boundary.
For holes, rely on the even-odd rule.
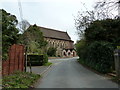
[[[20,21],[18,1],[2,0],[0,8]],[[23,19],[30,24],[67,31],[74,42],[79,39],[74,19],[78,11],[86,10],[84,3],[88,10],[92,10],[95,0],[21,0]]]

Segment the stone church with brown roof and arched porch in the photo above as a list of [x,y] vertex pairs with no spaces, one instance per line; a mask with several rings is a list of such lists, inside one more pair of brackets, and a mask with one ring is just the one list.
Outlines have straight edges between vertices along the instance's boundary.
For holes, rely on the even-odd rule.
[[58,57],[74,57],[74,41],[71,40],[67,32],[58,31],[50,28],[39,27],[43,32],[44,39],[48,42],[49,47],[57,48],[56,56]]

